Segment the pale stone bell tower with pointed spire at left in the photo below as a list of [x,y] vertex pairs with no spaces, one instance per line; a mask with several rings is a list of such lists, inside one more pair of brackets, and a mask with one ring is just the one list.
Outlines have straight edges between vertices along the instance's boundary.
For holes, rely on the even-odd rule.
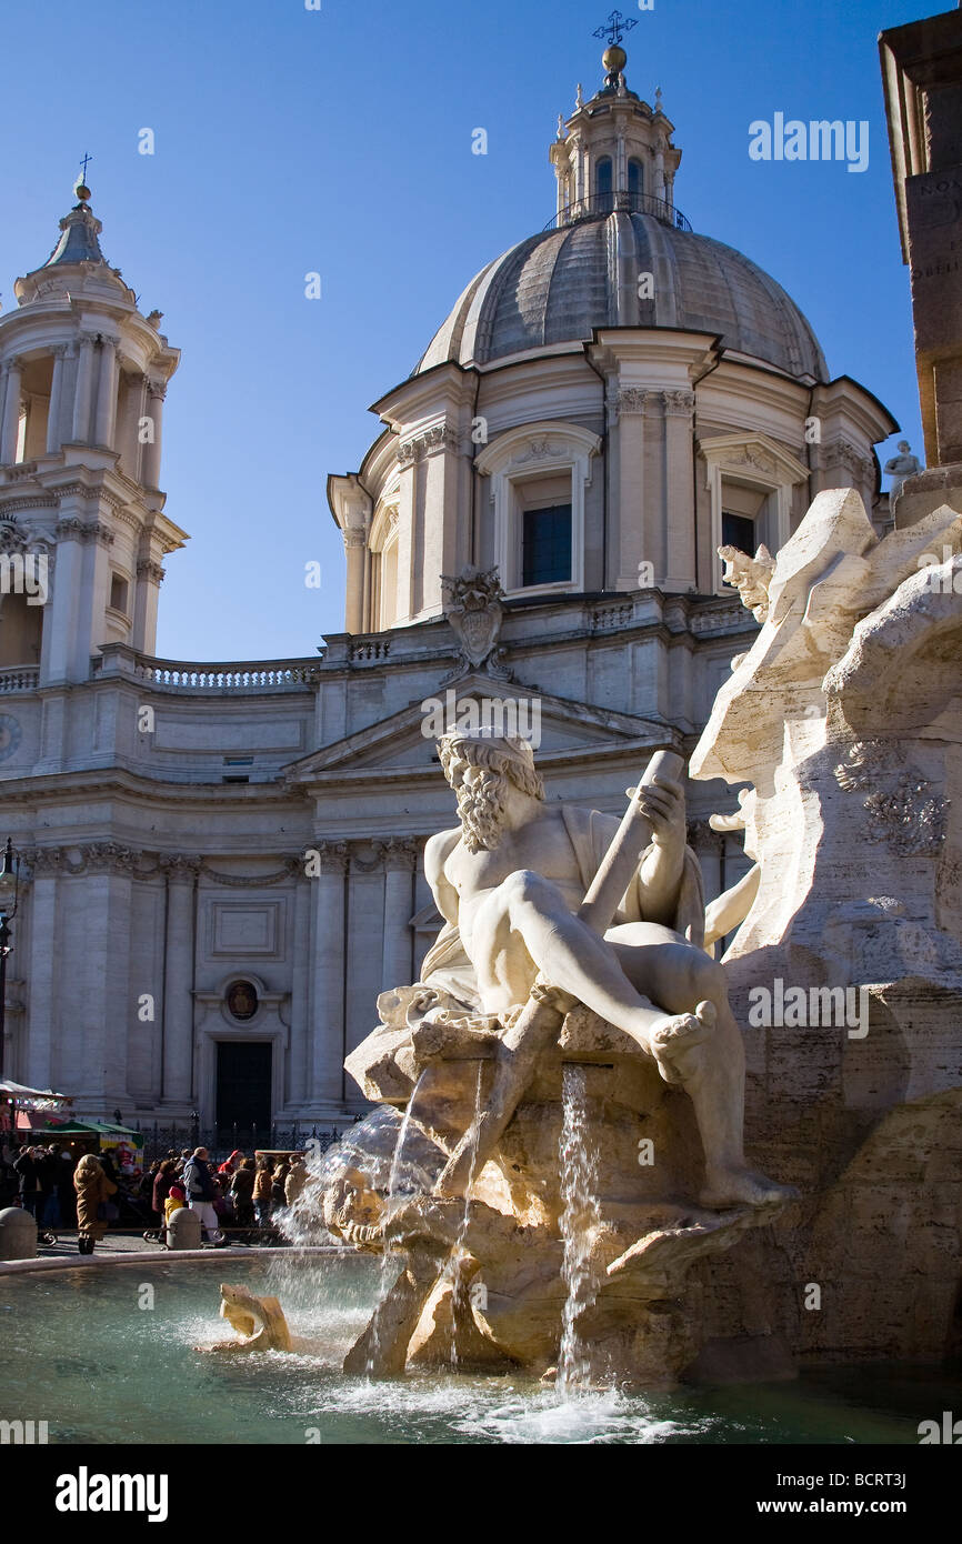
[[161,564],[187,539],[159,486],[181,355],[103,256],[90,188],[74,193],[0,318],[0,669],[40,686],[86,681],[108,642],[153,655]]

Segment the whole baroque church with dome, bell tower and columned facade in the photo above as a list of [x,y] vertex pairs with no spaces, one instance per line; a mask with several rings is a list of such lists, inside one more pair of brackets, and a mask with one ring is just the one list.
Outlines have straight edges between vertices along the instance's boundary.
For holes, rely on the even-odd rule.
[[[897,428],[784,290],[675,204],[661,94],[559,120],[557,213],[465,289],[327,482],[344,631],[292,661],[154,656],[179,352],[90,190],[0,317],[0,798],[22,857],[5,1075],[93,1116],[246,1130],[364,1109],[344,1056],[440,928],[439,704],[537,727],[547,797],[624,809],[687,753],[755,633],[718,547],[823,488],[886,520]],[[174,388],[176,389],[176,388]],[[36,581],[31,585],[31,577]],[[428,707],[426,704],[434,704]],[[474,704],[474,707],[471,707]],[[434,715],[434,720],[431,718]],[[744,871],[689,789],[712,897]]]

